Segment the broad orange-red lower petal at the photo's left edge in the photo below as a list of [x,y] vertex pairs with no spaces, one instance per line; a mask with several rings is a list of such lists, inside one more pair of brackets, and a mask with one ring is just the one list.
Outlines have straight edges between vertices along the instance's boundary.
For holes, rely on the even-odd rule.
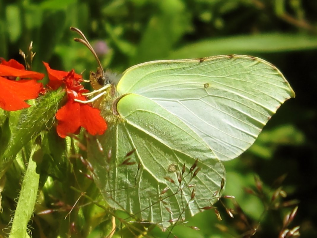
[[0,108],[16,111],[30,106],[24,100],[37,98],[42,90],[42,83],[37,83],[36,80],[12,81],[0,77],[0,90]]

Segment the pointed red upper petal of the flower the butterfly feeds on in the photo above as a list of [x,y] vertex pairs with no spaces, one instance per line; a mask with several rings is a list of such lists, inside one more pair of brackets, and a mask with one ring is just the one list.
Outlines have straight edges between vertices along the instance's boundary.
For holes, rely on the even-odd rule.
[[[45,68],[47,70],[47,74],[49,75],[48,86],[51,87],[54,90],[58,89],[64,83],[61,80],[63,80],[66,76],[68,76],[68,72],[51,69],[49,67],[49,64],[45,63],[45,62],[43,62],[43,64],[44,64],[44,66],[45,66]],[[81,82],[82,81],[82,76],[80,74],[75,74],[74,73],[74,79],[77,82]]]

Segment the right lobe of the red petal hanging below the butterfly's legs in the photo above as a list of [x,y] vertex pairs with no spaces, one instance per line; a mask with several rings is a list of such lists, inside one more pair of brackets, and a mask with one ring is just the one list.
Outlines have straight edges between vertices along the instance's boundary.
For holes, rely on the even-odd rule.
[[91,135],[102,135],[107,129],[107,123],[100,116],[100,110],[93,108],[88,104],[80,105],[81,126],[84,127]]

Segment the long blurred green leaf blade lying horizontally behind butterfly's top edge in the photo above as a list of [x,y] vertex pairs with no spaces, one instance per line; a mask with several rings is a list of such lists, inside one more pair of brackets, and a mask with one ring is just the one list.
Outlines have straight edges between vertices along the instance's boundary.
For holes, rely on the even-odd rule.
[[317,49],[317,37],[306,34],[265,33],[201,40],[171,52],[169,58],[206,57]]

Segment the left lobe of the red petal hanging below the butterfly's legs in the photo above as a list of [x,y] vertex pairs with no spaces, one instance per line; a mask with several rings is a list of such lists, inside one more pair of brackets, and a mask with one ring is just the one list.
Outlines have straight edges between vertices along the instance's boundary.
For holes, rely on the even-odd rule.
[[74,133],[80,128],[80,104],[73,100],[61,107],[56,113],[58,120],[57,134],[65,138],[69,133]]

